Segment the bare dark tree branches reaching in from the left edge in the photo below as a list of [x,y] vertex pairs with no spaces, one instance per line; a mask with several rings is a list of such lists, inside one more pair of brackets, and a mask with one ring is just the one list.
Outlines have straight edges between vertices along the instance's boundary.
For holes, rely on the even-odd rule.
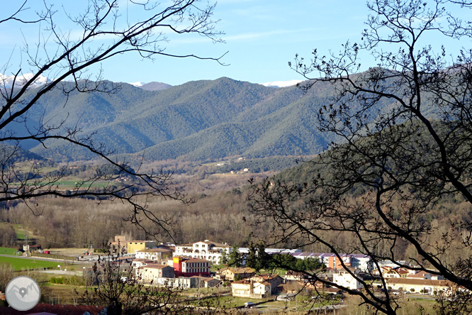
[[[35,214],[40,214],[38,199],[48,195],[120,199],[130,205],[132,210],[128,219],[133,223],[140,225],[142,219],[149,219],[160,226],[159,232],[169,231],[174,218],[156,216],[147,211],[147,200],[159,196],[185,201],[184,196],[172,188],[172,174],[131,170],[125,160],[118,160],[114,152],[106,148],[106,144],[96,143],[93,134],[82,132],[79,122],[64,118],[60,123],[50,123],[45,121],[44,114],[36,124],[28,120],[28,114],[37,110],[35,105],[38,101],[57,89],[65,96],[72,92],[116,91],[119,86],[104,82],[101,70],[93,70],[99,68],[101,62],[118,55],[134,53],[137,57],[151,60],[166,56],[220,62],[220,57],[177,55],[164,50],[169,36],[175,34],[193,33],[221,42],[219,36],[222,33],[215,30],[217,21],[212,19],[215,4],[198,0],[172,0],[166,4],[162,6],[148,0],[91,0],[79,1],[74,4],[74,11],[67,11],[64,5],[57,8],[50,1],[25,0],[18,4],[15,12],[0,19],[0,25],[5,29],[33,25],[38,27],[40,34],[37,42],[23,43],[21,57],[6,61],[1,69],[3,73],[12,74],[10,77],[13,79],[6,82],[4,76],[0,82],[0,201],[25,201]],[[128,8],[132,6],[133,12],[137,12],[128,16]],[[20,60],[18,67],[14,60]],[[27,72],[33,75],[24,76]],[[50,81],[38,87],[38,81],[43,77]],[[64,111],[67,110],[66,103]],[[132,177],[133,181],[120,187],[108,184],[96,189],[94,183],[113,178],[96,172],[66,192],[60,188],[60,180],[66,175],[64,171],[40,178],[37,167],[31,167],[29,172],[18,170],[15,162],[23,143],[35,141],[47,148],[47,140],[51,139],[61,139],[64,143],[85,148],[119,167],[122,174]]]

